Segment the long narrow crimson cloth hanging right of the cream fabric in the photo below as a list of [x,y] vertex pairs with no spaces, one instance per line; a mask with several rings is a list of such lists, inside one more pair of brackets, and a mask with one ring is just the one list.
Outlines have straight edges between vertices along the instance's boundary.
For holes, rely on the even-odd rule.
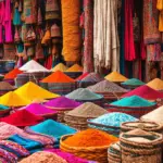
[[134,0],[125,0],[125,60],[136,59],[134,30],[133,30],[133,9]]

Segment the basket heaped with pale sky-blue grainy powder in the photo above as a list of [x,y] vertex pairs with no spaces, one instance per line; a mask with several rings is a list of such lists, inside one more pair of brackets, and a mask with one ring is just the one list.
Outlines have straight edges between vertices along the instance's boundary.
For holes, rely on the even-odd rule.
[[118,136],[122,123],[135,122],[135,121],[138,121],[138,120],[131,115],[115,112],[115,113],[101,115],[93,120],[89,120],[88,126],[91,128],[104,130],[114,136]]

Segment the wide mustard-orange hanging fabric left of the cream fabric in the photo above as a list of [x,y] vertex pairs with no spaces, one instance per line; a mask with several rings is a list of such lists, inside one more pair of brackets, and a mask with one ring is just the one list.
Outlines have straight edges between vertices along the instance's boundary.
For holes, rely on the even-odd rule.
[[79,29],[80,1],[61,0],[63,24],[63,57],[65,61],[79,61],[82,35]]

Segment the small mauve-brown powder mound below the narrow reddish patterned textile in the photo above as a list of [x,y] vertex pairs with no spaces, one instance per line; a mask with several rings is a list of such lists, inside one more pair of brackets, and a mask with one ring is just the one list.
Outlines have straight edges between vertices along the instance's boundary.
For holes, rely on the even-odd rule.
[[80,82],[96,82],[99,83],[103,80],[103,78],[97,73],[90,73],[86,77],[84,77]]

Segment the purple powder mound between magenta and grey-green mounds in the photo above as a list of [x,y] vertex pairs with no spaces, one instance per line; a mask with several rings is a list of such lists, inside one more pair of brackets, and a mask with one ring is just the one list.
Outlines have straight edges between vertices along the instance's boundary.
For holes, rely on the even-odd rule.
[[82,104],[80,102],[76,102],[65,97],[60,97],[45,103],[46,106],[50,106],[50,108],[67,108],[67,109],[76,108],[79,106],[80,104]]

